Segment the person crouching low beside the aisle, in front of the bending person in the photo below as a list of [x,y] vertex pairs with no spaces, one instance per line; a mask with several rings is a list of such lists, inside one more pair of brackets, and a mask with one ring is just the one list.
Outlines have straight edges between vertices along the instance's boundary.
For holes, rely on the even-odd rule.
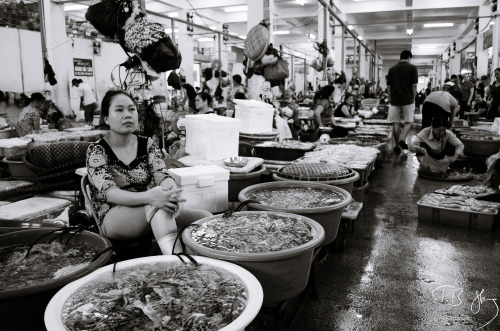
[[464,155],[464,144],[447,127],[448,118],[434,117],[430,127],[413,137],[409,149],[416,153],[421,170],[444,173],[451,163]]

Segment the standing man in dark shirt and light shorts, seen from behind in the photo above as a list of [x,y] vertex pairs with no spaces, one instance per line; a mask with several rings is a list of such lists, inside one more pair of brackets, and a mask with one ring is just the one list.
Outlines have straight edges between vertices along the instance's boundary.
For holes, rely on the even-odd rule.
[[[389,116],[387,120],[392,122],[392,132],[396,142],[395,154],[400,154],[401,149],[408,149],[405,140],[415,112],[418,70],[417,67],[410,64],[411,57],[410,51],[402,51],[399,63],[391,67],[387,74],[387,90],[389,92]],[[402,135],[401,119],[405,123]]]

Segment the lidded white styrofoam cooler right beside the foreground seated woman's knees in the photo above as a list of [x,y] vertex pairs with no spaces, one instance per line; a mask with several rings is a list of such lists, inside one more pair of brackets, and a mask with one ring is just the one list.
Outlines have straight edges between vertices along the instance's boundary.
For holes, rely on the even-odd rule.
[[181,208],[203,209],[211,213],[228,208],[229,170],[216,165],[199,165],[168,170],[186,202]]

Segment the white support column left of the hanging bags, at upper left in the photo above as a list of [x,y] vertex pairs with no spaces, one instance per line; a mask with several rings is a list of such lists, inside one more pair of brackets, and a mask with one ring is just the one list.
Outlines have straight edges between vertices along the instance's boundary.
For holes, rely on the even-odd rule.
[[[47,58],[52,65],[52,69],[56,74],[57,84],[52,86],[54,95],[53,99],[56,104],[64,112],[64,115],[72,114],[70,104],[70,75],[68,71],[69,66],[57,65],[61,63],[68,63],[70,59],[69,47],[71,43],[68,41],[66,35],[66,20],[64,13],[64,4],[57,4],[50,0],[41,0],[40,2],[41,13],[40,16],[42,25],[42,43],[45,40],[45,54],[43,57]],[[42,50],[44,46],[42,45]]]

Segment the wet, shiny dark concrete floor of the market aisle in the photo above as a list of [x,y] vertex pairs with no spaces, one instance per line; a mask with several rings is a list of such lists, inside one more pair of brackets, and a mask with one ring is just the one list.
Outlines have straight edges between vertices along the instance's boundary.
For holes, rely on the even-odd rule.
[[[417,201],[456,182],[417,169],[414,154],[389,154],[370,175],[345,251],[318,266],[319,298],[282,330],[500,330],[500,221],[491,232],[419,222]],[[272,329],[259,316],[247,330]]]

